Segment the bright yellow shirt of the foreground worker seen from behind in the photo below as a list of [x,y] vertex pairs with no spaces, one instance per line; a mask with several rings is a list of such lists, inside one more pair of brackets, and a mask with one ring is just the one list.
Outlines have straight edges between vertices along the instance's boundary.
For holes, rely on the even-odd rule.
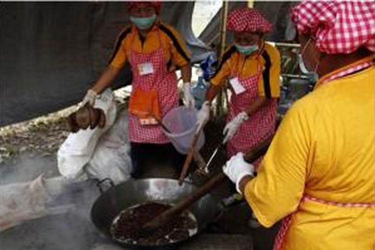
[[375,249],[375,207],[300,202],[375,203],[375,67],[297,101],[244,193],[267,227],[299,206],[283,249]]

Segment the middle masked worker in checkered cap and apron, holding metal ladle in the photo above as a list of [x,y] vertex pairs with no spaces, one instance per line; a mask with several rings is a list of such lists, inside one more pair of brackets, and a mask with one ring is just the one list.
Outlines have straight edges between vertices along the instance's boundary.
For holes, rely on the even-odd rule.
[[280,55],[264,41],[271,24],[255,9],[231,11],[227,28],[234,32],[234,45],[226,50],[211,78],[207,101],[197,118],[200,129],[208,119],[209,103],[228,79],[231,95],[223,143],[227,142],[230,157],[253,148],[274,132],[280,93]]

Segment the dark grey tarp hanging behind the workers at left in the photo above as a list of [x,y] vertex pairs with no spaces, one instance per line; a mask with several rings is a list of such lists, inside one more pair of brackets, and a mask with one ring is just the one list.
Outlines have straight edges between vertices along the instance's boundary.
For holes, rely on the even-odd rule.
[[[270,16],[282,14],[263,4]],[[126,9],[126,2],[1,2],[0,126],[77,103],[105,67]],[[191,31],[192,10],[193,2],[165,2],[161,19],[199,59],[207,48]],[[127,68],[113,87],[130,80]]]

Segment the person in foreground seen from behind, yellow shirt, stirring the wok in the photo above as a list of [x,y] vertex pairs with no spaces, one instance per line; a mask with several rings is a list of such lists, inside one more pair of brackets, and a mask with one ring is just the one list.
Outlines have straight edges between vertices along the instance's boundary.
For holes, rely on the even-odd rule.
[[223,170],[262,225],[283,218],[274,249],[374,249],[375,3],[306,1],[292,20],[317,85],[285,115],[256,177],[241,153]]

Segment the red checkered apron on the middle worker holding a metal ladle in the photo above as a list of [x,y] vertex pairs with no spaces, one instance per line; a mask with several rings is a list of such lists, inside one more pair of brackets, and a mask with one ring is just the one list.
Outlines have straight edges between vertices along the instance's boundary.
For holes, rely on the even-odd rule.
[[[238,82],[245,88],[245,91],[235,94],[232,91],[230,105],[226,121],[233,119],[238,113],[244,111],[258,95],[258,81],[260,78],[260,66],[254,75],[241,78],[237,73],[238,65],[232,77],[237,77]],[[226,150],[227,156],[231,157],[237,152],[246,152],[254,148],[258,143],[269,138],[275,130],[277,100],[269,100],[267,104],[260,107],[248,120],[242,122],[234,136],[228,141]],[[261,159],[253,162],[258,165]]]

